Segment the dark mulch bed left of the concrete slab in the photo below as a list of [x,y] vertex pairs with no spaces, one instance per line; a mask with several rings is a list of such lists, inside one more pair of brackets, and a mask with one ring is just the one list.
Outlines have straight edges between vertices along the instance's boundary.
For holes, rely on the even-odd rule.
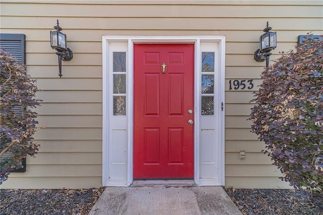
[[104,188],[1,190],[0,214],[88,214]]

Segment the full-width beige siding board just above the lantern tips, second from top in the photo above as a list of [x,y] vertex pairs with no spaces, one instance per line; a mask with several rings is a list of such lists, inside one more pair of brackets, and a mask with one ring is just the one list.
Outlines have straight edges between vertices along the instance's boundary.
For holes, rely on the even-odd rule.
[[[157,7],[157,10],[156,10]],[[69,13],[66,13],[66,12]],[[261,11],[261,15],[255,13]],[[316,17],[321,8],[317,6],[229,6],[229,5],[38,5],[4,4],[3,16],[39,17]]]

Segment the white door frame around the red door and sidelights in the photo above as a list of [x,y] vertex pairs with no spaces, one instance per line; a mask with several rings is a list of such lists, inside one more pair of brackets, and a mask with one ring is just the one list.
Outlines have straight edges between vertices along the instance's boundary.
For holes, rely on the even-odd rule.
[[[127,176],[123,182],[110,183],[109,175],[109,85],[107,73],[109,71],[109,42],[125,42],[128,44],[127,61]],[[219,179],[216,183],[200,183],[200,42],[219,43],[219,104],[225,104],[225,36],[102,36],[102,186],[130,186],[133,182],[133,46],[135,43],[193,43],[194,44],[194,182],[197,185],[225,185],[225,114],[220,108],[217,113],[217,140],[220,145],[217,149]],[[110,105],[111,106],[111,105]],[[111,108],[111,107],[110,107]],[[221,126],[220,126],[221,125]]]

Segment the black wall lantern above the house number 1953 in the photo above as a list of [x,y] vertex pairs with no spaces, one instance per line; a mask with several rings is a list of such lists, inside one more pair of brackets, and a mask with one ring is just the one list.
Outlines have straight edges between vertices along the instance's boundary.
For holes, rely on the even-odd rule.
[[272,55],[271,50],[275,49],[277,46],[276,32],[272,32],[272,27],[268,26],[263,29],[264,34],[259,38],[259,47],[254,52],[254,60],[257,62],[266,61],[266,67],[269,66],[269,58]]

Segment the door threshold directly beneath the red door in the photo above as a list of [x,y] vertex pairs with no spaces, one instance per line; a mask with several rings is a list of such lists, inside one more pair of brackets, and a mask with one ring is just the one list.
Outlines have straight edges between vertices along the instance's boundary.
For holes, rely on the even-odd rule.
[[195,187],[194,180],[135,180],[130,187],[146,187],[146,186],[159,186],[159,187]]

